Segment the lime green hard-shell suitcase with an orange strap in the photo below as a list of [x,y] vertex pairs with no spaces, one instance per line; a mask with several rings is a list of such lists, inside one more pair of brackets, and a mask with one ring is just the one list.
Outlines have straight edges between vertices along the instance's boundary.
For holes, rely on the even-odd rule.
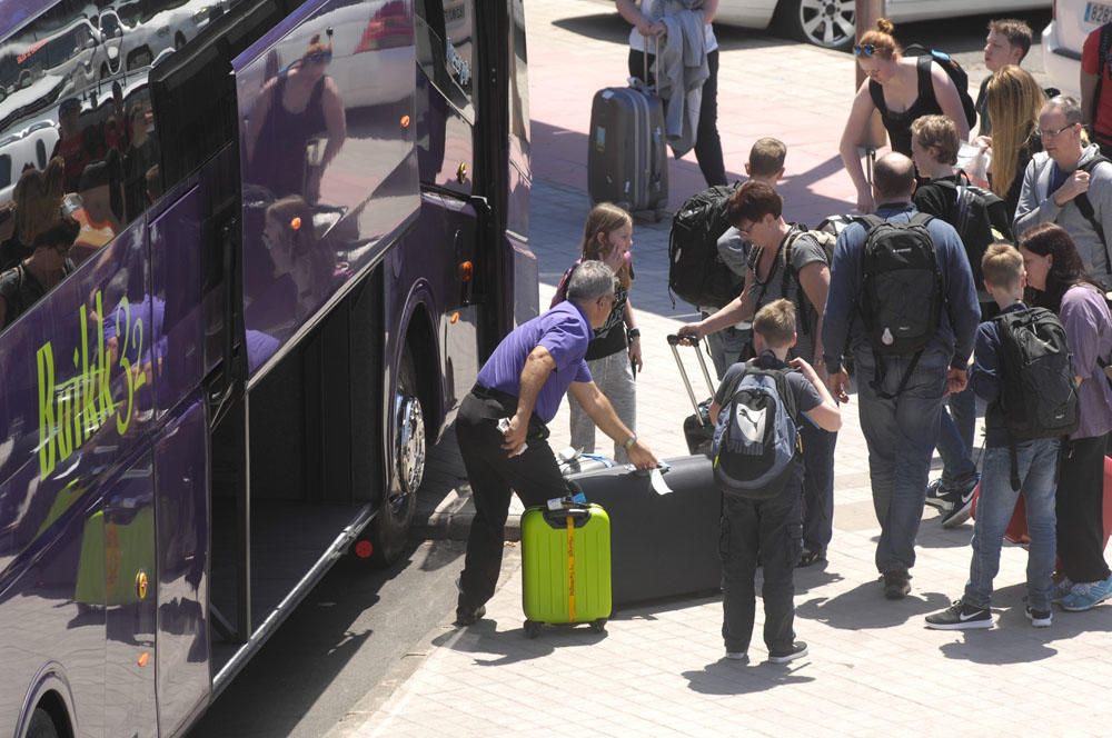
[[525,634],[543,624],[588,624],[610,617],[610,519],[597,505],[535,507],[522,517]]

